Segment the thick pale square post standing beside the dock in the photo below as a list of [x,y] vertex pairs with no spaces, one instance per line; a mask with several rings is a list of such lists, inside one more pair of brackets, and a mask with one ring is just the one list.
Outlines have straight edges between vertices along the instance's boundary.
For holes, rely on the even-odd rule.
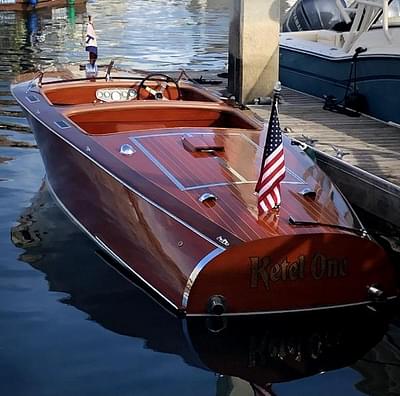
[[228,90],[240,103],[272,94],[279,76],[280,0],[232,0]]

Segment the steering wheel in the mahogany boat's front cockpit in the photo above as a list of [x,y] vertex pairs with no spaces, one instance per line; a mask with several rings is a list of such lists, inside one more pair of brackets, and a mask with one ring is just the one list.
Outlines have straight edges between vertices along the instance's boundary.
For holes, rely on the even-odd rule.
[[[175,86],[171,89],[169,83]],[[180,100],[182,98],[178,83],[170,76],[160,73],[148,74],[140,81],[137,99]]]

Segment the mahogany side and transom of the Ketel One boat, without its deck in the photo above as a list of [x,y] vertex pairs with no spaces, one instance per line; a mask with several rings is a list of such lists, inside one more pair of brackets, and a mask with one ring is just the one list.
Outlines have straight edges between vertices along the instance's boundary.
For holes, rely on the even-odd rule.
[[387,255],[372,241],[299,233],[224,251],[29,119],[58,203],[179,311],[206,314],[212,296],[223,296],[228,313],[243,314],[365,304],[368,285],[395,294]]

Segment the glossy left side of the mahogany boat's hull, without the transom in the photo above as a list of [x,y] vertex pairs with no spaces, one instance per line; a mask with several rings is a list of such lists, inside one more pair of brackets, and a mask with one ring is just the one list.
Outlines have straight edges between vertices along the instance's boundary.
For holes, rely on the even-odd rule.
[[[102,248],[108,247],[108,253],[182,309],[193,266],[218,247],[132,192],[43,125],[31,122],[58,203]],[[178,246],[182,240],[185,243]]]

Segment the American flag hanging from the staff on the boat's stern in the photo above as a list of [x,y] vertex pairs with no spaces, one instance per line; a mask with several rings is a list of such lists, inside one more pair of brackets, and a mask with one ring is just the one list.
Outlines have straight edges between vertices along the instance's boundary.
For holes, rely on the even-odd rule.
[[278,100],[274,96],[267,138],[262,157],[260,177],[256,185],[259,217],[281,204],[280,183],[285,177],[285,157],[278,117]]

